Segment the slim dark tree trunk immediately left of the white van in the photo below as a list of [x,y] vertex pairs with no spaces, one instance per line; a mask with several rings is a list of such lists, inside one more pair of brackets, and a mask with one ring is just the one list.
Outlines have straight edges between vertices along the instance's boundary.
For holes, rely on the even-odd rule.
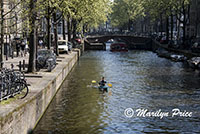
[[57,56],[59,56],[58,52],[58,31],[57,31],[57,19],[56,19],[56,11],[53,13],[53,31],[54,31],[54,50]]

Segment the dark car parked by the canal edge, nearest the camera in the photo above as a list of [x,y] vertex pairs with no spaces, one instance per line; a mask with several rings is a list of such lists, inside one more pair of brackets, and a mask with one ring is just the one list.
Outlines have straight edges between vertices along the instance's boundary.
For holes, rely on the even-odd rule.
[[52,50],[40,49],[37,52],[37,69],[47,68],[51,72],[56,66],[56,54]]

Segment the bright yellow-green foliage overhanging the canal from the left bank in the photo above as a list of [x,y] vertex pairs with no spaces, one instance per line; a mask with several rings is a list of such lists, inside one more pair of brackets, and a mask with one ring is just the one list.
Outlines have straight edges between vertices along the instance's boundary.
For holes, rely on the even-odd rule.
[[65,18],[77,21],[77,30],[83,25],[97,27],[107,20],[111,12],[110,0],[38,0],[36,10],[40,16],[47,15],[47,8],[60,12]]

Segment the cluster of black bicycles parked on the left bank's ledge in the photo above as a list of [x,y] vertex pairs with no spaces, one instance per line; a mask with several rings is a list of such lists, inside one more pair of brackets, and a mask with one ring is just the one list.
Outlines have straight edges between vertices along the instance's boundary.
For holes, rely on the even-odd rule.
[[17,94],[20,94],[19,98],[23,99],[28,92],[24,73],[6,68],[0,70],[0,101]]

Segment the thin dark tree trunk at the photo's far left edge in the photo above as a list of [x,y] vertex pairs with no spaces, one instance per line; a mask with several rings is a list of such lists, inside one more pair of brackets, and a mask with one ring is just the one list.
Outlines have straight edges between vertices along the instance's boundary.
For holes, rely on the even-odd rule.
[[4,60],[4,16],[3,16],[3,13],[4,13],[4,1],[1,0],[1,54],[0,54],[0,67],[2,68],[3,67],[3,60]]

